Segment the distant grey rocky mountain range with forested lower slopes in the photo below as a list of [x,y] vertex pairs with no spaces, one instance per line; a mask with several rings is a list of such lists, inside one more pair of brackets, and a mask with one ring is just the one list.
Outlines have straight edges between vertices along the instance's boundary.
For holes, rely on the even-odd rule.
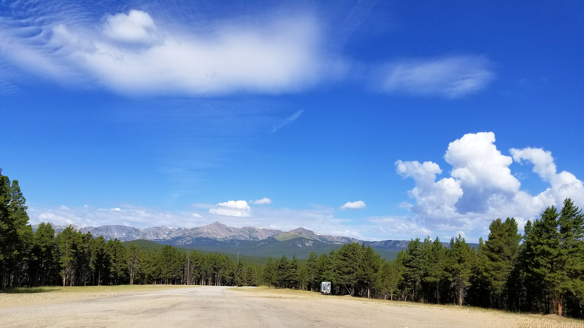
[[[68,226],[51,225],[53,225],[55,233]],[[33,231],[36,231],[37,226],[33,225]],[[313,251],[318,254],[328,253],[333,249],[338,249],[345,243],[358,242],[370,245],[381,256],[391,260],[397,256],[400,250],[408,247],[409,244],[409,240],[371,242],[346,236],[323,235],[304,228],[290,231],[255,228],[252,226],[234,228],[220,222],[213,222],[196,228],[169,228],[164,225],[152,228],[135,228],[125,225],[71,226],[83,233],[91,232],[94,236],[103,235],[106,239],[117,238],[122,242],[150,240],[162,245],[168,244],[206,252],[243,253],[248,256],[280,257],[282,255],[292,256],[296,254],[297,257],[306,258]],[[450,246],[449,243],[443,244],[446,247]],[[477,244],[470,245],[478,246]]]

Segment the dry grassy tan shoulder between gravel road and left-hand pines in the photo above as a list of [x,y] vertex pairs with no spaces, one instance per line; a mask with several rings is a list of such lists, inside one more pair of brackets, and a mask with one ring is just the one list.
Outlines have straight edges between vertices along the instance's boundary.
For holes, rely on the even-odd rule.
[[161,291],[164,289],[194,287],[186,285],[120,285],[81,287],[33,287],[0,291],[0,307],[15,305],[37,305],[79,301],[135,292]]

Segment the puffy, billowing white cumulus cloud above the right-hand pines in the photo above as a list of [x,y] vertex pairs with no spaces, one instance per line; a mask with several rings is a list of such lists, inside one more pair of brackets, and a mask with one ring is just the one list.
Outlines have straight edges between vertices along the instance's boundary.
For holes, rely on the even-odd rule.
[[[567,197],[584,205],[582,182],[572,173],[556,173],[551,152],[539,148],[510,152],[513,158],[496,148],[493,132],[465,134],[449,144],[444,159],[452,166],[450,177],[438,181],[436,175],[442,169],[436,163],[395,162],[397,173],[415,182],[408,191],[415,204],[407,207],[418,224],[433,231],[469,233],[485,229],[489,221],[499,217],[515,217],[524,222]],[[533,171],[550,188],[536,196],[521,190],[521,183],[509,169],[513,159],[533,163]]]

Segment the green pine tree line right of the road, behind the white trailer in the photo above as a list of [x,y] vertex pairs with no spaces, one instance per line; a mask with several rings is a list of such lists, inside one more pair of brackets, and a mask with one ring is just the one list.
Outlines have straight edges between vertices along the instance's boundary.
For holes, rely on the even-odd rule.
[[558,210],[527,221],[524,235],[513,218],[496,219],[478,249],[458,235],[412,239],[394,261],[364,244],[329,254],[312,252],[305,264],[269,259],[262,283],[276,288],[332,292],[424,303],[454,303],[531,313],[584,317],[584,217],[570,198]]

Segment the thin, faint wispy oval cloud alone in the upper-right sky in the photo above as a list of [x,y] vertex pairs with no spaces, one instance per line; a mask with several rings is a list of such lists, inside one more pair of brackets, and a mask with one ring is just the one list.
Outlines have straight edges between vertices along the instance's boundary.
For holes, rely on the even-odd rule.
[[383,90],[456,98],[482,90],[495,77],[479,56],[404,61],[388,66]]

